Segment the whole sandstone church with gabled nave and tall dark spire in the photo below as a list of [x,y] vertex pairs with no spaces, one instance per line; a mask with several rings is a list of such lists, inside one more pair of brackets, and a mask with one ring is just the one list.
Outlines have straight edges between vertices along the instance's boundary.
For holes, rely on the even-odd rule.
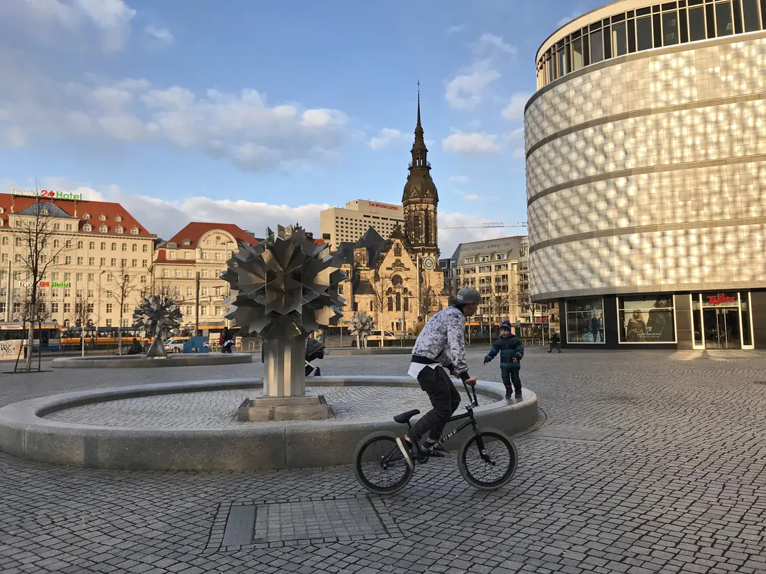
[[376,329],[408,334],[419,317],[427,320],[449,304],[439,267],[439,194],[430,176],[419,90],[411,155],[401,197],[404,227],[396,225],[387,238],[369,227],[356,243],[340,243],[336,251],[336,263],[348,275],[339,286],[344,325],[356,312],[366,311]]

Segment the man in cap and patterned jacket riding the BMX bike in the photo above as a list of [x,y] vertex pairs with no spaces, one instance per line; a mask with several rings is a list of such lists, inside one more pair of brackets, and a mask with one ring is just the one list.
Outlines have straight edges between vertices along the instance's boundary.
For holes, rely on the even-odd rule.
[[[453,385],[450,373],[463,383],[476,384],[476,377],[468,374],[465,332],[466,317],[476,312],[480,302],[481,295],[476,289],[460,289],[452,305],[431,317],[417,336],[407,373],[417,379],[434,408],[421,416],[406,435],[396,439],[410,468],[414,468],[417,442],[426,433],[425,447],[430,448],[438,442],[444,426],[460,404],[460,393]],[[447,451],[439,446],[431,455],[444,457]]]

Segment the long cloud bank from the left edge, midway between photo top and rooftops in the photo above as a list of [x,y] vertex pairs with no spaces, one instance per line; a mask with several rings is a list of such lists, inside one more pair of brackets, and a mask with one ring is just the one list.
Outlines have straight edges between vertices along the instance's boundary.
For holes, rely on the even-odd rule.
[[339,110],[272,104],[257,90],[200,94],[132,78],[60,83],[23,56],[3,51],[0,70],[0,146],[153,140],[258,171],[332,160],[347,135]]

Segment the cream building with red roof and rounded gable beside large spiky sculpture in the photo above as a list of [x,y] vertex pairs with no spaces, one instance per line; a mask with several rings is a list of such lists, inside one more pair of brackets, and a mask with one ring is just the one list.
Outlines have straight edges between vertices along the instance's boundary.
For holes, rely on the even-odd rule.
[[191,222],[157,247],[153,290],[176,298],[184,328],[193,330],[198,324],[203,333],[218,331],[226,326],[226,300],[231,295],[229,284],[221,279],[226,262],[241,244],[259,241],[234,223]]

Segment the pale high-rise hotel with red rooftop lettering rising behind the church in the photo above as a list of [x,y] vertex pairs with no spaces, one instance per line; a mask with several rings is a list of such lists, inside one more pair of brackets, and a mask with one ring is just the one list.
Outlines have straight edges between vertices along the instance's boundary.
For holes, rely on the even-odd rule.
[[397,204],[355,199],[345,208],[330,207],[319,213],[322,240],[333,250],[341,243],[355,243],[372,227],[381,236],[388,237],[397,225],[404,225],[404,208]]

